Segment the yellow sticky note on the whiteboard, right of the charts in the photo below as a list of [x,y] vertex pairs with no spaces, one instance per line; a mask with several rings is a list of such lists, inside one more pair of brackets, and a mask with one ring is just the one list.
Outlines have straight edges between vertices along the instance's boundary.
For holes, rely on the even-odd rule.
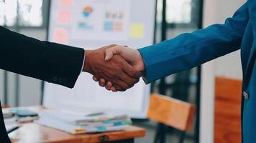
[[132,24],[130,26],[129,36],[132,39],[141,39],[144,35],[144,25],[143,24]]

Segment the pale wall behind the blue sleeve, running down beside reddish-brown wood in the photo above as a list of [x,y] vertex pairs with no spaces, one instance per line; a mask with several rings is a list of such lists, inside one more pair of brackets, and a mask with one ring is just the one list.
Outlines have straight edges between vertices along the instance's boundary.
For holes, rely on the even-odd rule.
[[[224,23],[232,16],[244,0],[204,0],[204,27],[215,23]],[[242,67],[239,51],[209,61],[202,66],[201,74],[201,127],[200,142],[214,141],[214,78],[216,76],[242,79]]]

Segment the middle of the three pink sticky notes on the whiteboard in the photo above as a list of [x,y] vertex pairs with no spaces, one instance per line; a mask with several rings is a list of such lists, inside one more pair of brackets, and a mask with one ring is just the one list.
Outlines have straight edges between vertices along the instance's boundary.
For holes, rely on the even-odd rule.
[[69,9],[58,10],[57,21],[58,21],[58,24],[70,24],[71,11]]

